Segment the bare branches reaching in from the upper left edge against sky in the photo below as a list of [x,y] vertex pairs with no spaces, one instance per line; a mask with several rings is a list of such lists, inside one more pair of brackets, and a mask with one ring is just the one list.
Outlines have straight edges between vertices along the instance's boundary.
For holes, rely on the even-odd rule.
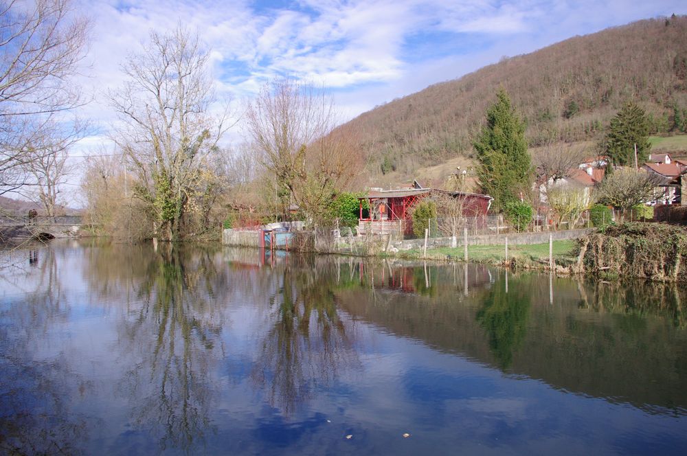
[[71,78],[89,23],[73,13],[71,0],[0,1],[0,194],[35,183],[27,164],[83,131],[64,117],[83,102]]

